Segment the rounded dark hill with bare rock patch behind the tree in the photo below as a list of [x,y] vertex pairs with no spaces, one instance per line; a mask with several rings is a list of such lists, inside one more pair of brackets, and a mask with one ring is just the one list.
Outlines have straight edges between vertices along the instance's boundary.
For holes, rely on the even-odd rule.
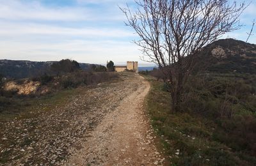
[[214,41],[199,53],[199,59],[209,72],[256,74],[256,45],[244,41]]

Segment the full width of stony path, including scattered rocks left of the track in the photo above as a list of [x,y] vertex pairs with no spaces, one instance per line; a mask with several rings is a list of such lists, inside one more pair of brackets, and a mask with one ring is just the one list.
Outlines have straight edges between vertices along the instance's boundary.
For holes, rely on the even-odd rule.
[[164,165],[143,110],[150,86],[134,73],[121,79],[0,124],[0,165]]

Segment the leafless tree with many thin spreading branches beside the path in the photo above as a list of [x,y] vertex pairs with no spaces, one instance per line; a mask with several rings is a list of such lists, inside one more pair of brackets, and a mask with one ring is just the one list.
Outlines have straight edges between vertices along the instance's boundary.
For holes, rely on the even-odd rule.
[[238,18],[246,6],[230,4],[228,0],[135,0],[135,3],[138,5],[135,11],[128,5],[121,8],[128,20],[125,24],[140,36],[134,42],[143,51],[142,59],[164,69],[171,84],[172,107],[178,111],[196,53],[222,34],[239,29]]

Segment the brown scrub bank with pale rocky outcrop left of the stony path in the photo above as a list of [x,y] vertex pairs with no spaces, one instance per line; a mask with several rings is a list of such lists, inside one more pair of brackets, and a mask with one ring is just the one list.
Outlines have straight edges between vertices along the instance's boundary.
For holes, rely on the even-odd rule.
[[0,113],[8,116],[13,113],[19,114],[22,110],[26,110],[27,106],[33,104],[34,101],[54,96],[55,93],[63,89],[93,86],[117,78],[117,73],[77,71],[55,77],[42,75],[33,79],[11,80],[2,83],[5,86],[1,86],[2,88],[0,89]]

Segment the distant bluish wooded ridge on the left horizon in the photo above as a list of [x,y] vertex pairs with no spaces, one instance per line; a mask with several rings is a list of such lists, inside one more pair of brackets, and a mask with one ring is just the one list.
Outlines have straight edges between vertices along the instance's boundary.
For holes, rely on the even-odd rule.
[[[4,77],[22,79],[26,77],[38,77],[44,73],[51,72],[50,66],[57,61],[35,62],[35,61],[12,61],[0,59],[0,74]],[[88,63],[79,63],[82,70],[90,67]]]

